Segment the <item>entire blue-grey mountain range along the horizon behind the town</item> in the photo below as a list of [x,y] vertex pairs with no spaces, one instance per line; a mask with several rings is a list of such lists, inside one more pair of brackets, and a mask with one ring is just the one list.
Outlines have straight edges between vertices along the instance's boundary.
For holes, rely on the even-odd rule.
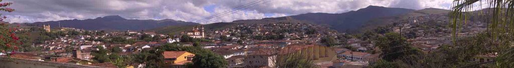
[[[387,8],[379,6],[368,6],[357,11],[345,13],[306,13],[285,17],[235,20],[232,22],[219,22],[211,24],[198,24],[194,22],[164,20],[135,20],[124,19],[120,16],[105,16],[86,20],[61,20],[35,22],[34,24],[49,24],[52,27],[75,27],[88,30],[152,30],[158,33],[175,33],[188,30],[192,26],[204,25],[206,29],[217,29],[228,27],[234,24],[253,23],[276,23],[276,22],[300,22],[309,24],[320,24],[339,32],[359,32],[364,29],[371,29],[377,26],[391,24],[391,21],[405,20],[409,17],[424,16],[429,14],[449,13],[449,10],[427,8],[412,10],[403,8]],[[60,23],[59,23],[60,22]]]

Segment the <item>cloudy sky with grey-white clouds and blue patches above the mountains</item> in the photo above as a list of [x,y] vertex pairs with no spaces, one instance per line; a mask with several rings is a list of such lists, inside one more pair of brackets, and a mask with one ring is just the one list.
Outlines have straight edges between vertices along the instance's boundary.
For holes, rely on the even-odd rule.
[[[94,19],[174,19],[201,24],[305,13],[344,13],[383,6],[420,10],[449,9],[452,0],[4,0],[14,12],[0,12],[11,23]],[[245,7],[241,9],[234,9]],[[233,12],[221,14],[230,10]],[[208,17],[212,19],[205,20]],[[205,20],[205,21],[201,21]]]

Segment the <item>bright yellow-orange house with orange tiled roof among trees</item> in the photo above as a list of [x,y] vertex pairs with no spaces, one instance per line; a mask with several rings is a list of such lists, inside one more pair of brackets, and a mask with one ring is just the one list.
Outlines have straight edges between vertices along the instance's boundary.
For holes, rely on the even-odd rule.
[[187,51],[164,51],[162,56],[164,56],[164,62],[166,62],[166,66],[182,68],[185,67],[184,64],[191,62],[194,54]]

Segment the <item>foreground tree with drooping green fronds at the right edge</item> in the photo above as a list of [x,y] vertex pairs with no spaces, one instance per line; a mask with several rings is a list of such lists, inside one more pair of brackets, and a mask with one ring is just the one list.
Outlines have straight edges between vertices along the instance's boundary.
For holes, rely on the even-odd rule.
[[[473,14],[471,11],[476,9],[475,4],[481,5],[489,5],[487,8],[490,10],[481,10],[479,17],[487,18],[484,19],[488,24],[488,29],[486,32],[490,35],[494,44],[499,44],[499,46],[506,47],[509,49],[502,50],[499,52],[499,57],[497,57],[497,65],[498,67],[514,67],[512,63],[514,63],[514,48],[509,47],[512,46],[514,36],[514,1],[512,0],[456,0],[452,5],[452,12],[450,14],[452,27],[452,38],[453,42],[457,42],[457,32],[458,28],[461,28],[463,23],[466,23],[467,20],[471,19],[469,14]],[[482,7],[479,7],[482,8]],[[507,38],[504,38],[507,37]],[[509,42],[509,43],[501,43],[501,42]],[[455,44],[454,44],[455,45]]]

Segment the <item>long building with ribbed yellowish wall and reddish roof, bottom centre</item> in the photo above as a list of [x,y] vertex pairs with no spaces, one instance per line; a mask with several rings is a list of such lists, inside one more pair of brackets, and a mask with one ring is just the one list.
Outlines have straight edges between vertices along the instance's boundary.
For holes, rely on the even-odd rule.
[[317,65],[332,63],[336,60],[336,53],[329,47],[319,45],[290,45],[276,49],[259,49],[254,50],[251,54],[246,55],[244,64],[246,67],[275,67],[275,62],[279,60],[286,60],[288,57],[284,56],[303,56],[307,59],[313,60]]

